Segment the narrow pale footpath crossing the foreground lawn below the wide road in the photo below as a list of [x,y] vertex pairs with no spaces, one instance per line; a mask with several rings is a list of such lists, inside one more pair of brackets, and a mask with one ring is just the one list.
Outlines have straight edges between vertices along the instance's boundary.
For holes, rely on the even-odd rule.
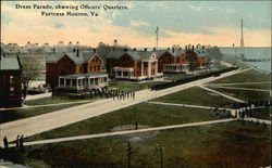
[[[219,119],[219,120],[209,120],[209,121],[200,121],[200,122],[191,122],[191,124],[182,124],[182,125],[173,125],[173,126],[163,126],[163,127],[153,127],[153,128],[144,128],[137,130],[126,130],[126,131],[116,131],[116,132],[106,132],[106,133],[96,133],[96,134],[85,134],[85,135],[76,135],[76,137],[66,137],[66,138],[58,138],[58,139],[48,139],[48,140],[39,140],[25,142],[24,145],[37,145],[37,144],[48,144],[48,143],[58,143],[58,142],[66,142],[66,141],[76,141],[76,140],[86,140],[86,139],[95,139],[95,138],[106,138],[113,135],[124,135],[131,133],[141,133],[149,131],[162,131],[162,130],[171,130],[177,128],[187,128],[187,127],[197,127],[197,126],[206,126],[213,124],[222,124],[237,120],[236,118],[228,119]],[[15,144],[11,144],[10,146],[15,146]]]

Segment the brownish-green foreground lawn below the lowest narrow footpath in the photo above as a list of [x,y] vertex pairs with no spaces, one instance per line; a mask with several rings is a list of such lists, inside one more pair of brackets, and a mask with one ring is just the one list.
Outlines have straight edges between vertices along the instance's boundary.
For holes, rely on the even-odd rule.
[[[160,131],[132,141],[132,167],[256,168],[271,165],[269,128],[233,121]],[[127,141],[119,137],[27,146],[18,156],[30,167],[127,167]],[[249,161],[250,160],[250,161]]]

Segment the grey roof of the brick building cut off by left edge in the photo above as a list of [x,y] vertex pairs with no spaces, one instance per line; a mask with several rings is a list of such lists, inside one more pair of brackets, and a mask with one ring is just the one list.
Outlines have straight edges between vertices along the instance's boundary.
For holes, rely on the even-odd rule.
[[21,70],[22,65],[17,57],[0,56],[0,70]]

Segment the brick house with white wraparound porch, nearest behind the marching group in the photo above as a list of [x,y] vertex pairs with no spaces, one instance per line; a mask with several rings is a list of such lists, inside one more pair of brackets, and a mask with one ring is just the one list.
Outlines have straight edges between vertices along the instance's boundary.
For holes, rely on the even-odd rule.
[[[46,61],[46,82],[58,89],[73,91],[108,87],[103,60],[96,51],[55,53]],[[94,81],[92,81],[94,80]]]

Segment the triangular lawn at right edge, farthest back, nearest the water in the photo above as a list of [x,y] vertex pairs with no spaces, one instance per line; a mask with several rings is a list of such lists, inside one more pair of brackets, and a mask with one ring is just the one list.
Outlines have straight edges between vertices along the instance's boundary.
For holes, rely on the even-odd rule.
[[212,83],[268,82],[268,81],[271,81],[271,77],[269,75],[251,69],[212,81]]

